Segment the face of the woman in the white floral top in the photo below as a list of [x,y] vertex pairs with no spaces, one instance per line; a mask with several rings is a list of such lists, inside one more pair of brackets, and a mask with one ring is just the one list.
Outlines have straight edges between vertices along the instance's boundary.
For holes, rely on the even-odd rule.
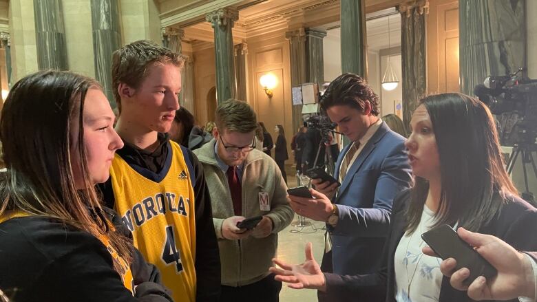
[[429,113],[424,105],[419,105],[410,121],[412,133],[405,143],[408,160],[414,175],[426,180],[440,180],[440,158],[436,137]]

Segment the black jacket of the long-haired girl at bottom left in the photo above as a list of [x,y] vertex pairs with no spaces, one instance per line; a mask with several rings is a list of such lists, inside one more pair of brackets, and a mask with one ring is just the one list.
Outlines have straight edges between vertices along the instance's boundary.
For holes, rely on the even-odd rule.
[[158,271],[134,251],[136,296],[93,235],[44,217],[0,224],[0,288],[12,301],[172,301]]

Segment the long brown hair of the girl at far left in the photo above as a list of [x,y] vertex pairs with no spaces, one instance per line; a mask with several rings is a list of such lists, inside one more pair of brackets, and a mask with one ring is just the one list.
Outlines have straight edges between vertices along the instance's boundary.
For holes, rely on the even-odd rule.
[[[101,215],[100,199],[89,179],[83,131],[88,89],[101,89],[92,78],[71,72],[31,74],[12,87],[0,119],[3,158],[8,169],[0,182],[0,215],[21,211],[54,219],[98,237],[106,235],[130,262],[125,237]],[[78,138],[72,139],[72,126]],[[73,146],[76,142],[76,147]],[[72,150],[78,149],[84,188],[77,189]],[[114,268],[120,272],[114,261]]]

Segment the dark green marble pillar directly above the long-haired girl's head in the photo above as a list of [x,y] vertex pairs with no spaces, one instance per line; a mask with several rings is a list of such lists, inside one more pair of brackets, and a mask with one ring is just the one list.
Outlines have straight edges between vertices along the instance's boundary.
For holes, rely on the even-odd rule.
[[61,1],[34,1],[34,17],[39,69],[68,69]]

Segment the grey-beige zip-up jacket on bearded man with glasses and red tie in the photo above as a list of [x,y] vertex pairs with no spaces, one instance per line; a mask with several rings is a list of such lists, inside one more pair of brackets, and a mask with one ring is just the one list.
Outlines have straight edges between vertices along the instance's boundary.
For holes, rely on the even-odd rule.
[[[242,169],[242,216],[268,216],[273,222],[271,235],[265,238],[252,236],[241,240],[222,237],[222,222],[235,215],[227,176],[216,161],[215,140],[193,151],[203,165],[203,171],[213,208],[213,222],[220,263],[222,263],[222,285],[242,286],[254,283],[268,275],[271,259],[276,256],[277,233],[291,224],[293,210],[287,201],[287,186],[280,169],[272,158],[262,151],[252,150]],[[271,211],[261,211],[260,192],[268,194]]]

